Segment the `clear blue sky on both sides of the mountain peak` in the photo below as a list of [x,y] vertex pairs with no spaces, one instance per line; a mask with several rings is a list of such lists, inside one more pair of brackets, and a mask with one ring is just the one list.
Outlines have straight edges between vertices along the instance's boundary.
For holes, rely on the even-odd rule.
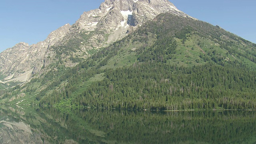
[[[19,42],[36,44],[104,0],[2,0],[0,52]],[[186,14],[256,43],[256,0],[170,0]]]

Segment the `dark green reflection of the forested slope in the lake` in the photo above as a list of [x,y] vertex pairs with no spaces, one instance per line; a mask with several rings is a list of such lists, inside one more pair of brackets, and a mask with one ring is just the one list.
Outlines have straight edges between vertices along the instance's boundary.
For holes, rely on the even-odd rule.
[[[256,136],[255,112],[140,112],[122,110],[46,110],[62,120],[79,142],[241,143]],[[70,137],[72,138],[72,137]]]

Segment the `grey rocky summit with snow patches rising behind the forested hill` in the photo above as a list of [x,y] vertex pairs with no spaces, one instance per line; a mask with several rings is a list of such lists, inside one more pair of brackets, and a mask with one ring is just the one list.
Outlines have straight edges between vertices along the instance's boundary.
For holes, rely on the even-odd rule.
[[189,17],[168,0],[105,0],[98,9],[84,12],[74,26],[80,31],[86,31],[88,35],[89,32],[97,31],[83,43],[86,44],[85,49],[92,48],[90,44],[100,48],[120,40],[164,12]]

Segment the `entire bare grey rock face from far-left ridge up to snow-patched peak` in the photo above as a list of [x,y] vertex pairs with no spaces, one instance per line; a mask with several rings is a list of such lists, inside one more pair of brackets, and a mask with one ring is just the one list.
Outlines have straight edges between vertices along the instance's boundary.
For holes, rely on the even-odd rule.
[[[189,17],[178,10],[168,0],[105,0],[96,10],[84,12],[75,24],[66,24],[55,30],[44,40],[29,46],[26,43],[16,44],[0,54],[0,75],[2,81],[24,82],[32,73],[37,73],[46,63],[54,62],[56,50],[51,46],[65,46],[74,39],[79,39],[72,52],[63,55],[62,59],[71,56],[86,58],[88,50],[98,49],[120,40],[138,26],[152,20],[158,14],[171,12],[179,16]],[[191,18],[191,17],[190,17]],[[68,56],[69,55],[69,56]],[[74,66],[70,64],[66,66]]]

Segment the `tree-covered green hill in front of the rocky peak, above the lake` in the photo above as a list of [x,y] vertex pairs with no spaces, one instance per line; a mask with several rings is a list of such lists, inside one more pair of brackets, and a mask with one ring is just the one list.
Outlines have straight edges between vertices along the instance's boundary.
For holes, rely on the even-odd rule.
[[[174,55],[180,48],[176,39],[182,40],[184,45],[194,35],[220,46],[206,46],[205,41],[193,40],[194,45],[188,50],[208,47],[207,52],[201,50],[192,61],[188,60],[194,56],[186,55],[187,66],[174,64]],[[127,44],[136,42],[141,45],[135,50],[137,62],[132,66],[115,68],[118,65],[115,61],[113,68],[101,69],[129,47]],[[256,109],[256,71],[243,62],[254,62],[256,53],[250,46],[253,44],[208,23],[161,14],[158,20],[144,24],[55,79],[48,88],[64,80],[67,84],[41,99],[40,105],[66,103],[153,110]],[[220,53],[222,51],[225,53]],[[226,60],[231,54],[237,57]],[[192,62],[198,65],[193,66]],[[92,81],[103,73],[103,80]],[[43,82],[47,80],[49,78]]]

